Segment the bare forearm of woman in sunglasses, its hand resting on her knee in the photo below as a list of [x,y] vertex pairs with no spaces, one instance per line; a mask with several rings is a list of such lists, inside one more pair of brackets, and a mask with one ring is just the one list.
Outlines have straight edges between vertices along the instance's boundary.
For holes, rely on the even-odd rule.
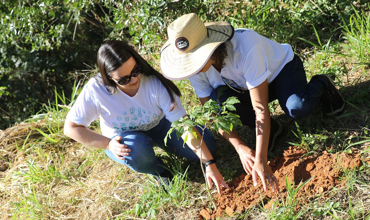
[[64,135],[84,145],[101,149],[107,149],[108,143],[111,140],[84,126],[76,126],[75,123],[69,121],[65,122]]

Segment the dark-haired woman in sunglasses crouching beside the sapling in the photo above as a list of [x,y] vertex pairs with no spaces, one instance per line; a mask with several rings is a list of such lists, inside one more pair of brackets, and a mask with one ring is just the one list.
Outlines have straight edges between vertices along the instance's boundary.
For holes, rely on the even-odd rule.
[[[64,134],[84,145],[102,148],[112,160],[131,170],[157,177],[159,184],[169,184],[171,172],[155,156],[154,146],[167,152],[199,161],[200,140],[188,134],[185,147],[176,132],[164,146],[171,122],[186,117],[173,82],[154,70],[135,50],[122,41],[104,43],[97,54],[100,70],[82,89],[67,114]],[[88,129],[100,119],[101,134]],[[193,128],[198,136],[202,130]],[[216,141],[206,129],[202,162],[208,181],[228,187],[218,171],[213,156]],[[203,142],[204,143],[204,142]]]

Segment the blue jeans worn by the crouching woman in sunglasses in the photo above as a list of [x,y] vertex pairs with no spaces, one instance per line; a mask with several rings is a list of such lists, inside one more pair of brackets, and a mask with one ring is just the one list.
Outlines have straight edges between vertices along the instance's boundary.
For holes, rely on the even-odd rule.
[[[171,128],[171,122],[165,117],[159,121],[158,125],[148,131],[131,131],[121,133],[120,143],[127,145],[131,149],[129,156],[124,156],[125,160],[117,159],[110,150],[105,150],[105,153],[112,160],[128,166],[131,170],[139,173],[161,174],[165,170],[165,164],[158,159],[154,153],[154,146],[157,146],[167,152],[174,153],[177,156],[187,158],[189,160],[200,161],[198,156],[186,145],[183,147],[184,141],[182,138],[177,139],[176,131],[171,133],[171,139],[167,139],[167,146],[164,146],[164,138]],[[202,129],[196,127],[199,133],[202,134]],[[205,129],[203,137],[205,144],[214,157],[216,154],[216,139],[211,131]]]

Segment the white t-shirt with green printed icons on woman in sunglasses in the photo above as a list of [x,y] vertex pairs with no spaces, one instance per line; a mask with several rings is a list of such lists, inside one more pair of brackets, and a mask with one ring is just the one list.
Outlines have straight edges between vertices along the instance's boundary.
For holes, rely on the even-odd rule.
[[67,119],[88,127],[99,118],[102,135],[108,138],[128,131],[147,131],[158,125],[164,116],[173,122],[186,115],[179,97],[174,96],[176,105],[169,111],[171,98],[154,75],[141,75],[139,90],[134,97],[120,89],[117,94],[110,94],[104,85],[91,78],[68,112]]

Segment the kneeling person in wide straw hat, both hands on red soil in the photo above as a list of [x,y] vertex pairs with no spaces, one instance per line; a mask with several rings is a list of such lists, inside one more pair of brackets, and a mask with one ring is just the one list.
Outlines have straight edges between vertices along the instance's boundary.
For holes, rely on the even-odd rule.
[[[263,189],[279,183],[267,164],[275,138],[282,131],[270,118],[268,103],[278,99],[283,111],[300,119],[319,104],[327,115],[340,114],[344,100],[325,74],[307,83],[300,58],[289,44],[280,44],[255,31],[234,28],[227,22],[203,23],[194,13],[179,17],[168,26],[168,41],[161,48],[161,70],[168,79],[189,78],[202,105],[209,99],[220,103],[238,97],[236,114],[256,131],[254,152],[234,132],[219,131],[236,149],[243,168],[258,177]],[[220,97],[218,90],[225,89]]]

